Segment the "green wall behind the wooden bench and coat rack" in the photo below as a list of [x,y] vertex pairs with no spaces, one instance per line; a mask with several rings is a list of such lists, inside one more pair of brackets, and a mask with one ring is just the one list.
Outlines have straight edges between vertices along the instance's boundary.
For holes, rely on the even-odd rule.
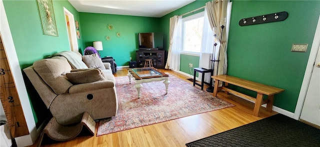
[[[284,21],[238,25],[241,18],[281,11],[288,13]],[[233,0],[227,74],[284,89],[275,95],[274,106],[293,113],[319,14],[320,1],[315,0]],[[307,43],[307,51],[291,52],[292,43]]]

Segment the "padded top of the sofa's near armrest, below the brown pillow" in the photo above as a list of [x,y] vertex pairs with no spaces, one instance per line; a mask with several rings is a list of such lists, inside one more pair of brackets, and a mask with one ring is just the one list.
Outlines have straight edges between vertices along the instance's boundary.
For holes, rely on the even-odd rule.
[[92,91],[103,88],[113,88],[114,82],[111,80],[97,81],[91,83],[77,84],[69,88],[69,94],[81,93],[84,91]]

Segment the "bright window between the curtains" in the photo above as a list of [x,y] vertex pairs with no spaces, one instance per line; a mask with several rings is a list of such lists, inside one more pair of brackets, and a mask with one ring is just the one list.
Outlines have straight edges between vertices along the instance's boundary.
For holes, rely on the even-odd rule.
[[183,52],[200,53],[204,12],[182,18]]

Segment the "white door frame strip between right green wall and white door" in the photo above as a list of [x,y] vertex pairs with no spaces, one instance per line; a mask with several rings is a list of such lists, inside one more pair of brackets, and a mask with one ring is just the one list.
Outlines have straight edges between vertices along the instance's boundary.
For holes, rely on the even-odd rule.
[[302,85],[300,88],[300,93],[298,96],[298,101],[295,106],[295,111],[293,115],[293,119],[295,120],[298,120],[301,115],[304,99],[310,83],[311,74],[312,74],[314,63],[315,63],[316,54],[319,49],[319,45],[320,45],[320,15],[319,15],[318,23],[315,29],[314,38],[313,38],[313,42],[312,42],[312,46],[309,54],[309,59],[305,68],[304,77],[303,77]]

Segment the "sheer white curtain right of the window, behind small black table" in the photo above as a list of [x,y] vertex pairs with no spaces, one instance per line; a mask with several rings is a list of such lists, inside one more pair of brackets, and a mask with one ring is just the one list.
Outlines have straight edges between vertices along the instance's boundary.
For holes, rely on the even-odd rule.
[[[203,32],[202,32],[202,39],[201,39],[201,53],[212,53],[213,52],[213,44],[214,44],[214,38],[213,38],[213,31],[210,27],[206,8],[204,8],[204,22],[203,22]],[[202,60],[202,54],[200,53],[200,61]],[[213,59],[213,58],[212,58]],[[209,62],[212,64],[212,62]],[[201,78],[201,73],[199,73],[199,78]],[[210,73],[205,73],[204,75],[204,81],[209,83],[211,79]]]

